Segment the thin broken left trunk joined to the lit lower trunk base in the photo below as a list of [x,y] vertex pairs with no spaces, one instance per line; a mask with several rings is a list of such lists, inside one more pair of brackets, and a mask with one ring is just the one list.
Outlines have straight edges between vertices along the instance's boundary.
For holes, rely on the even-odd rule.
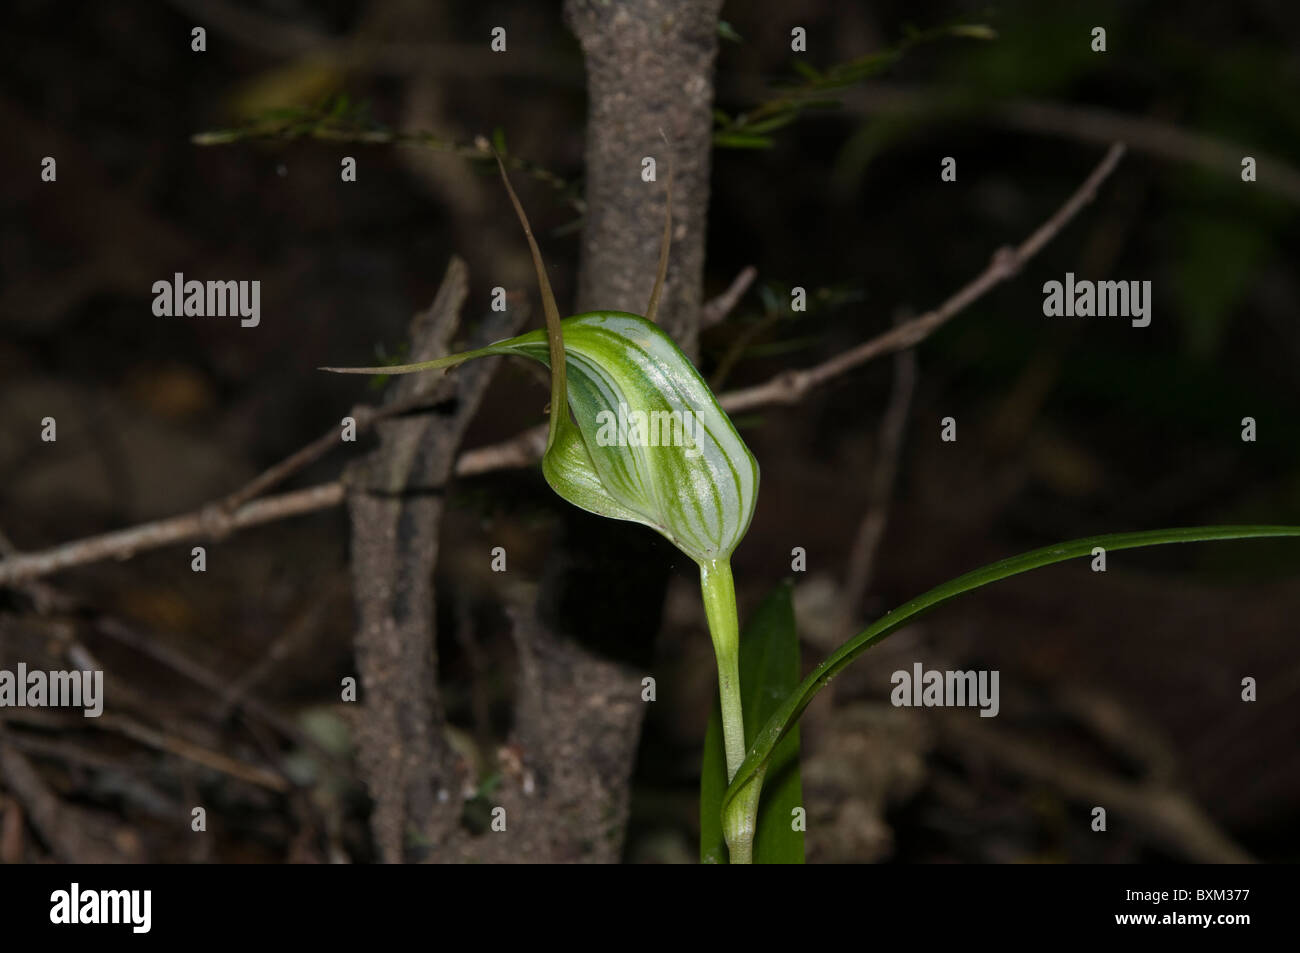
[[[433,306],[412,322],[412,360],[447,354],[467,282],[464,263],[452,259]],[[520,317],[485,321],[467,346],[508,337]],[[433,576],[445,488],[491,371],[493,361],[469,361],[447,377],[396,378],[390,399],[425,389],[433,410],[381,424],[380,447],[347,475],[360,615],[356,738],[374,802],[370,827],[389,863],[616,862],[644,710],[641,673],[538,621],[537,586],[500,593],[520,672],[493,796],[507,826],[474,835],[462,823],[463,789],[478,779],[447,741]]]

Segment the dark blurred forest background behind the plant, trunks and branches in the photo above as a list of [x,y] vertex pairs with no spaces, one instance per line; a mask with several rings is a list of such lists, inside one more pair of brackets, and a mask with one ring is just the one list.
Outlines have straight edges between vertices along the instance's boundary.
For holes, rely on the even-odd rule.
[[[722,389],[937,306],[1123,138],[1097,116],[1138,130],[1095,204],[916,348],[888,530],[854,620],[1056,540],[1300,523],[1300,8],[754,0],[722,18],[716,105],[729,116],[798,82],[797,59],[824,69],[896,49],[913,29],[996,31],[909,46],[829,94],[838,105],[772,131],[770,147],[715,150],[705,296],[748,265],[758,274],[701,335],[701,369],[724,369]],[[560,307],[573,300],[586,92],[559,5],[16,0],[5,20],[0,532],[13,547],[194,510],[377,400],[365,378],[315,368],[399,356],[454,254],[469,268],[468,325],[495,285],[536,307],[526,246],[488,164],[312,135],[196,144],[198,133],[320,109],[464,144],[500,130],[512,156],[560,179],[515,182]],[[195,25],[204,53],[190,49]],[[488,46],[498,25],[504,55]],[[793,26],[809,31],[806,55],[790,53]],[[1105,53],[1089,49],[1093,26],[1108,31]],[[344,155],[358,159],[355,183],[339,181]],[[1242,182],[1244,155],[1258,159],[1258,182]],[[40,181],[43,156],[57,159],[57,183]],[[956,183],[940,182],[944,156],[957,159]],[[151,285],[174,272],[260,280],[260,326],[155,317]],[[1150,326],[1045,319],[1043,282],[1066,272],[1152,281]],[[792,286],[807,289],[806,313],[789,312]],[[733,560],[741,616],[805,547],[794,582],[809,666],[844,634],[837,599],[890,368],[874,361],[797,406],[736,419],[763,473]],[[465,446],[537,423],[545,400],[529,368],[503,363]],[[39,439],[44,416],[57,443]],[[945,416],[957,443],[939,439]],[[1240,438],[1244,416],[1254,443]],[[337,476],[372,445],[292,485]],[[448,737],[478,785],[471,828],[482,829],[514,724],[502,588],[540,582],[584,520],[537,467],[462,480],[448,495],[439,679]],[[621,854],[690,861],[712,655],[694,567],[656,537],[634,545],[670,584],[653,641],[623,651],[621,632],[603,633],[658,681]],[[510,554],[506,576],[489,569],[494,546]],[[103,663],[117,699],[104,724],[0,711],[0,813],[17,819],[3,827],[3,859],[374,859],[355,706],[339,701],[355,675],[348,555],[335,508],[208,543],[202,575],[185,543],[52,576],[66,601],[53,608],[0,589],[0,667],[66,667],[72,641]],[[805,722],[809,859],[1296,859],[1297,577],[1292,541],[1162,547],[1113,554],[1106,573],[1076,562],[1022,576],[924,618]],[[595,590],[556,611],[599,628],[623,598]],[[224,689],[196,686],[176,658]],[[916,659],[1000,670],[1000,716],[893,709],[889,673]],[[1254,703],[1239,699],[1245,676],[1260,681]],[[250,716],[248,698],[291,731]],[[194,803],[208,807],[208,837],[190,832]],[[1095,803],[1123,805],[1105,835],[1088,827]]]

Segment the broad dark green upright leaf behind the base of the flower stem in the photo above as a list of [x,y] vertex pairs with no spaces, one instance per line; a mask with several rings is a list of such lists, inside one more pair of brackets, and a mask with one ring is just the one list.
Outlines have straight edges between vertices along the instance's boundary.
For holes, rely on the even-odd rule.
[[[746,742],[771,718],[800,680],[800,641],[789,582],[774,589],[740,637],[741,707]],[[722,805],[727,790],[722,707],[715,701],[705,733],[699,774],[699,862],[727,863]],[[803,832],[790,829],[796,807],[803,806],[800,783],[798,727],[776,746],[758,809],[754,863],[803,863]]]

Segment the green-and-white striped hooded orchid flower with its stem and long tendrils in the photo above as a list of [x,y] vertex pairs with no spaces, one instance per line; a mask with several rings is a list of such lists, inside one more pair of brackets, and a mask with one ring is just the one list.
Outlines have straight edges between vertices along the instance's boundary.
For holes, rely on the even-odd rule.
[[[718,657],[723,737],[732,777],[745,759],[745,728],[731,555],[754,515],[758,463],[699,372],[655,324],[668,268],[672,174],[659,269],[646,316],[597,311],[562,321],[528,216],[499,156],[497,161],[533,256],[545,330],[417,364],[322,369],[404,374],[491,355],[516,355],[547,365],[551,411],[542,473],[551,489],[588,512],[650,527],[699,566]],[[757,803],[758,785],[750,787]],[[748,814],[751,819],[753,811]],[[734,816],[745,814],[737,811]],[[727,840],[732,862],[745,862],[753,824],[737,822],[731,827]]]

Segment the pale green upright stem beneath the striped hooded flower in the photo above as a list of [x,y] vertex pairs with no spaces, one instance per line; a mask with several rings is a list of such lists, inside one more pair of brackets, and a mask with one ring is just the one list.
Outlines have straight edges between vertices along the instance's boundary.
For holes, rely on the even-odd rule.
[[[728,559],[699,563],[699,589],[708,618],[708,634],[718,657],[718,690],[723,711],[723,748],[727,751],[727,780],[731,781],[745,761],[745,716],[740,696],[740,620],[736,612],[736,585]],[[758,800],[759,784],[746,787],[744,798]],[[750,863],[754,849],[754,811],[736,811],[738,824],[723,819],[723,833],[732,863]],[[734,829],[733,829],[734,828]]]

